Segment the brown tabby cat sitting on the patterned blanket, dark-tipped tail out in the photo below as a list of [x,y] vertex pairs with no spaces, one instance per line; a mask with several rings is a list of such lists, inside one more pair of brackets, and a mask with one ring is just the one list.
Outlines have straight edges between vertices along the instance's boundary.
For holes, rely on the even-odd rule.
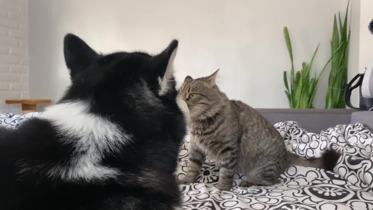
[[179,89],[191,117],[188,173],[181,183],[196,182],[205,155],[220,167],[221,190],[232,187],[235,172],[248,177],[239,184],[247,187],[278,183],[280,174],[290,165],[333,169],[339,158],[334,151],[309,160],[287,151],[272,124],[247,104],[229,100],[219,90],[215,83],[218,71],[197,79],[187,76]]

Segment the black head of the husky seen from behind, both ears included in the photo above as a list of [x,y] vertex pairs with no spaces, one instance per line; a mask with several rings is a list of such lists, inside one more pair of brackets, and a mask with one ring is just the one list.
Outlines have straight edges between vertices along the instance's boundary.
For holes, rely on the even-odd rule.
[[102,55],[67,34],[64,55],[71,85],[59,103],[84,101],[91,113],[116,123],[156,120],[152,127],[157,128],[164,114],[182,116],[173,77],[177,47],[178,41],[173,40],[154,56],[143,52]]

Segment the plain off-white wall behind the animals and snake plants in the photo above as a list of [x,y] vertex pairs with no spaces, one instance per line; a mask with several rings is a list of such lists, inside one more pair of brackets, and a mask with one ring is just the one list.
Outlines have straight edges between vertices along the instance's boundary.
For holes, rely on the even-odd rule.
[[[346,5],[347,0],[33,0],[30,97],[57,100],[69,84],[62,40],[72,32],[101,52],[156,53],[178,38],[179,82],[186,75],[200,77],[220,68],[218,81],[230,98],[256,108],[288,108],[282,75],[290,70],[290,61],[283,27],[289,29],[296,70],[309,62],[321,42],[314,62],[320,72],[330,56],[333,14],[341,11],[344,17]],[[355,33],[352,44],[358,44]],[[352,48],[358,52],[358,46]],[[354,54],[349,66],[355,70]],[[319,84],[318,108],[325,106],[328,72]]]

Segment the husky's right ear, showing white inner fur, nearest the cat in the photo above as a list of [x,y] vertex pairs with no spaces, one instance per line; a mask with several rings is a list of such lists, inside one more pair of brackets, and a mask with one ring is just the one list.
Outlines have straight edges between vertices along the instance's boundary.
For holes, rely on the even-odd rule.
[[172,40],[168,47],[159,55],[154,56],[157,66],[157,75],[160,96],[167,93],[171,86],[175,86],[173,78],[173,61],[178,49],[178,40]]

